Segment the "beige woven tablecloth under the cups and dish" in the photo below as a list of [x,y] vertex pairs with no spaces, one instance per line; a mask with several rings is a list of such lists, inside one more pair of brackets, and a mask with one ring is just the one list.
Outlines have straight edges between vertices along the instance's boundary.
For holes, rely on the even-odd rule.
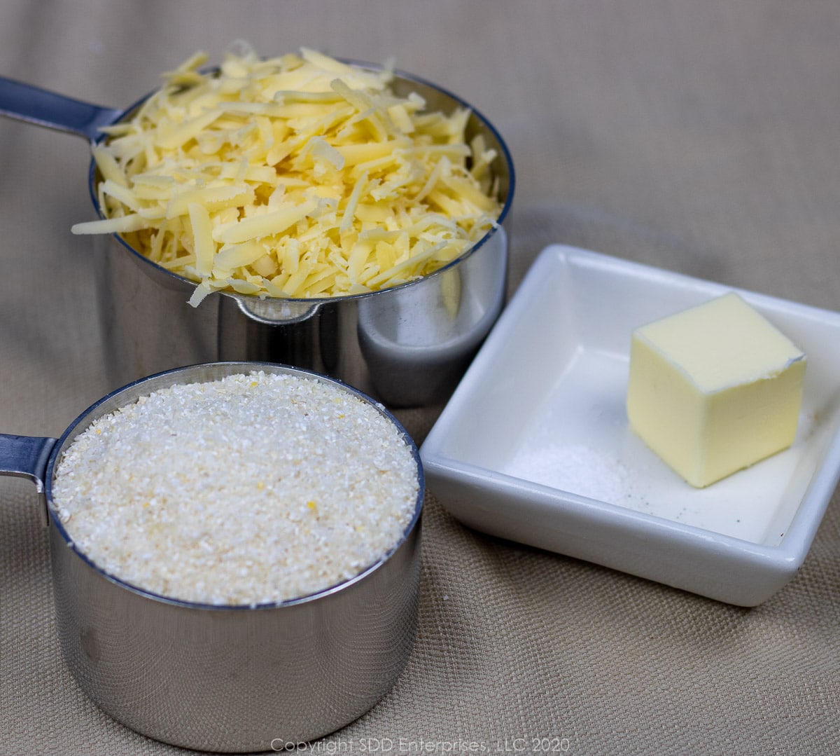
[[[835,0],[5,0],[0,75],[124,106],[238,38],[393,56],[492,119],[517,164],[511,290],[564,242],[840,309]],[[113,388],[90,241],[70,233],[92,218],[87,162],[76,137],[0,119],[5,433],[56,436]],[[399,413],[418,442],[436,415]],[[0,478],[0,500],[0,752],[180,753],[77,688],[34,488]],[[322,753],[836,750],[837,495],[801,572],[752,610],[483,536],[431,494],[424,525],[412,658]]]

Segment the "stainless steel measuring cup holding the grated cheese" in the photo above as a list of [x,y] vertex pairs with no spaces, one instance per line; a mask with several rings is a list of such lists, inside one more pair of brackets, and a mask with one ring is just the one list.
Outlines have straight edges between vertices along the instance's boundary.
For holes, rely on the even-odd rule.
[[[399,287],[329,299],[213,293],[197,308],[186,301],[194,283],[151,262],[118,235],[95,236],[109,385],[197,362],[266,360],[340,378],[391,406],[449,398],[505,302],[504,224],[513,200],[513,161],[496,128],[464,100],[402,71],[392,87],[399,95],[417,92],[432,110],[470,108],[467,140],[482,135],[497,153],[491,169],[502,205],[498,225],[446,267]],[[0,78],[0,114],[92,143],[102,139],[102,125],[128,117],[139,103],[102,108]],[[91,161],[88,187],[102,216],[97,182]]]

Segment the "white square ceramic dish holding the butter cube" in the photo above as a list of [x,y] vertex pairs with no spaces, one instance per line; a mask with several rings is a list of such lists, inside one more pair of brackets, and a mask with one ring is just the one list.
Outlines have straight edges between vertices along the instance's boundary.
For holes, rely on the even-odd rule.
[[[794,444],[694,489],[627,424],[630,334],[737,291],[806,352]],[[794,577],[840,478],[840,314],[549,246],[420,454],[465,525],[730,604]]]

